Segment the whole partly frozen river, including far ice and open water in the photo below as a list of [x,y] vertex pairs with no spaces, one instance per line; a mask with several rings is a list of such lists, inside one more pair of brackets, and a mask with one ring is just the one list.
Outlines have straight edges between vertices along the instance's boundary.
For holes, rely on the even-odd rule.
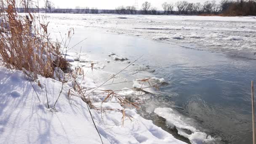
[[[52,35],[75,28],[71,45],[87,38],[70,52],[82,47],[86,60],[81,64],[90,67],[95,63],[96,69],[87,76],[99,83],[144,54],[115,82],[164,78],[167,83],[157,95],[145,94],[149,100],[139,112],[165,131],[175,136],[177,132],[171,129],[175,125],[183,136],[176,137],[187,142],[195,138],[205,143],[252,142],[254,17],[49,14],[48,21]],[[115,61],[109,52],[129,60]],[[125,83],[110,88],[133,86]]]

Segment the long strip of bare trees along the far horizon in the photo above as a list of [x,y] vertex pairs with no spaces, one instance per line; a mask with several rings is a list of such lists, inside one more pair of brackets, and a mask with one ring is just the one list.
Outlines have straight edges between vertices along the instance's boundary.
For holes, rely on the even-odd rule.
[[[182,15],[202,15],[202,16],[256,16],[256,0],[221,0],[216,3],[215,0],[205,1],[204,3],[189,3],[188,1],[178,1],[176,3],[163,3],[162,9],[157,9],[149,2],[144,2],[139,6],[119,6],[115,10],[99,10],[98,8],[88,8],[77,6],[71,8],[55,8],[54,3],[45,0],[45,5],[38,8],[30,0],[24,0],[25,4],[16,8],[18,12],[45,12],[45,13],[118,13],[118,14],[182,14]],[[1,8],[5,5],[2,3]],[[17,6],[18,7],[18,6]]]

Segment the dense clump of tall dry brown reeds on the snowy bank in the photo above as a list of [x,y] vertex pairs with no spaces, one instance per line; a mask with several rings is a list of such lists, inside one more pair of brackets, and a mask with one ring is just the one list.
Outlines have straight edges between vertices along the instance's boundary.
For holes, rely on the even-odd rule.
[[67,70],[69,63],[62,57],[60,43],[49,40],[48,24],[35,13],[19,15],[15,0],[6,0],[6,4],[8,8],[0,12],[0,56],[5,67],[26,69],[35,79],[37,75],[54,77],[56,67]]

